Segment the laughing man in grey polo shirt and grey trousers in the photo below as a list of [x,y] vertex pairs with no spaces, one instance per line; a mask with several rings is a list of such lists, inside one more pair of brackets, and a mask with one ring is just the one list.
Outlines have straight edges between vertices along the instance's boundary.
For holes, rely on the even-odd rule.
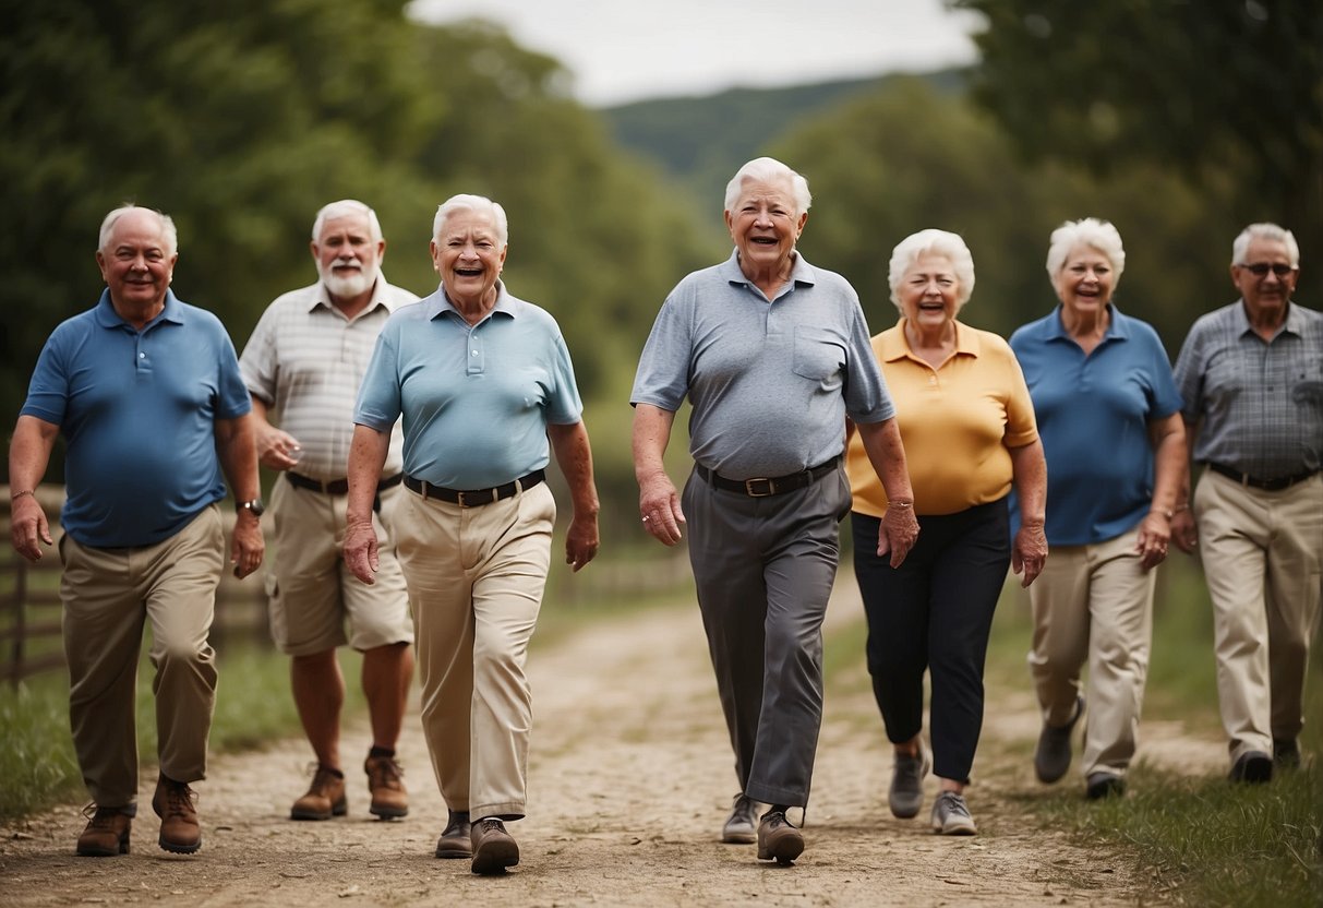
[[[795,250],[810,203],[781,161],[740,168],[725,197],[734,251],[667,296],[630,397],[643,528],[675,545],[693,519],[689,560],[741,789],[722,840],[757,840],[759,859],[782,864],[804,847],[786,811],[808,803],[822,724],[822,622],[851,504],[847,416],[890,502],[878,555],[898,567],[918,537],[859,296]],[[681,499],[663,454],[685,397],[695,469]]]

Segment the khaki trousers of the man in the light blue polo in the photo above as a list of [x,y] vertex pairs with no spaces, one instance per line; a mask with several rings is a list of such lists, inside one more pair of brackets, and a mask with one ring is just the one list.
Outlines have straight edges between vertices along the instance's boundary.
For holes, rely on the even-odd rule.
[[524,663],[550,568],[556,499],[546,483],[468,508],[409,492],[394,516],[441,794],[474,819],[519,819],[533,724]]

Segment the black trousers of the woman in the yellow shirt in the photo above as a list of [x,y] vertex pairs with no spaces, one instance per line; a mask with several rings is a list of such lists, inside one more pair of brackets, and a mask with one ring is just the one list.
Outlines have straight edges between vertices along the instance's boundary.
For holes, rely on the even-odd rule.
[[992,613],[1011,561],[1005,499],[919,516],[918,541],[900,568],[876,555],[880,523],[851,514],[868,674],[886,737],[900,744],[922,731],[923,672],[931,672],[933,770],[968,782],[983,731]]

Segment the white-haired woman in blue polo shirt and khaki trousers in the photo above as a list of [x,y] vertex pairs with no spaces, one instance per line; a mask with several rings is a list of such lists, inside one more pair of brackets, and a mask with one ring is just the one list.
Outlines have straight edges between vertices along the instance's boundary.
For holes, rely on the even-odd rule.
[[1167,557],[1185,470],[1167,351],[1151,326],[1111,302],[1125,263],[1111,224],[1066,221],[1048,249],[1061,304],[1011,336],[1048,458],[1052,557],[1029,588],[1029,667],[1043,709],[1033,765],[1044,782],[1065,776],[1088,703],[1090,798],[1125,793],[1148,671],[1154,568]]

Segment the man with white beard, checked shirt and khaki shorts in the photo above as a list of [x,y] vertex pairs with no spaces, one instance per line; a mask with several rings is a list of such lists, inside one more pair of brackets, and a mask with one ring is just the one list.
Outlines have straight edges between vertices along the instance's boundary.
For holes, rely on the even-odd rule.
[[398,426],[377,484],[377,582],[355,580],[340,549],[359,385],[386,318],[418,298],[381,274],[386,241],[376,212],[361,201],[336,201],[318,212],[311,249],[320,279],[275,299],[239,359],[253,397],[258,458],[284,474],[271,492],[271,637],[292,658],[294,702],[316,756],[312,784],[290,815],[331,819],[348,811],[340,762],[345,687],[336,649],[349,643],[363,654],[372,723],[364,764],[369,811],[394,819],[409,813],[396,743],[414,668],[413,621],[390,529],[402,478]]

